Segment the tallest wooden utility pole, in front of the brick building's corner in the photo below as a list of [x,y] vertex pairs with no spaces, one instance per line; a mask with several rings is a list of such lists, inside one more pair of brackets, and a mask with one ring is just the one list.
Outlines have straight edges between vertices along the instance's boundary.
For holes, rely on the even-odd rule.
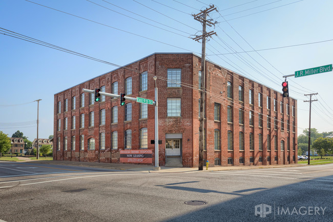
[[199,170],[203,170],[203,128],[204,128],[204,104],[205,104],[205,53],[206,53],[206,37],[209,37],[216,32],[206,32],[206,25],[212,26],[212,19],[207,19],[207,14],[211,11],[216,10],[214,5],[210,8],[206,8],[198,14],[193,14],[194,19],[202,24],[202,35],[196,36],[193,40],[198,41],[202,39],[202,50],[201,50],[201,85],[200,85],[200,127],[199,127]]

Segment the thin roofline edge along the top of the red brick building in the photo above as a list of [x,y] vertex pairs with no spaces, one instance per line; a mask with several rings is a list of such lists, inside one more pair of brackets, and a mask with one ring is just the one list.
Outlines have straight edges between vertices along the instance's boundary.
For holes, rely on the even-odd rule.
[[[97,76],[95,76],[95,77],[93,77],[93,78],[90,78],[90,79],[86,80],[85,82],[79,83],[79,84],[77,84],[77,85],[75,85],[75,86],[72,86],[72,87],[70,87],[70,88],[68,88],[68,89],[65,89],[65,90],[63,90],[63,91],[60,91],[60,92],[64,92],[64,91],[66,91],[66,90],[72,89],[72,88],[74,88],[74,87],[76,87],[76,86],[79,86],[79,85],[81,85],[81,84],[84,84],[84,83],[86,83],[86,82],[89,82],[90,80],[92,80],[92,79],[94,79],[94,78],[97,78],[97,77],[99,77],[99,76],[102,76],[102,75],[108,74],[108,73],[113,72],[113,71],[116,71],[116,70],[118,70],[118,69],[122,69],[123,67],[129,66],[129,65],[132,65],[132,64],[134,64],[134,63],[139,62],[140,60],[142,60],[142,59],[144,59],[144,58],[148,58],[148,57],[150,57],[150,56],[152,56],[152,55],[156,55],[156,54],[192,54],[192,55],[195,55],[195,56],[201,58],[200,55],[197,55],[197,54],[194,53],[194,52],[154,52],[154,53],[152,53],[152,54],[150,54],[150,55],[147,55],[147,56],[144,56],[144,57],[142,57],[142,58],[140,58],[140,59],[137,59],[137,60],[135,60],[135,61],[132,62],[132,63],[129,63],[129,64],[127,64],[127,65],[123,65],[123,66],[121,66],[121,67],[118,67],[118,68],[116,68],[116,69],[114,69],[114,70],[111,70],[111,71],[109,71],[109,72],[103,73],[103,74],[101,74],[101,75],[97,75]],[[223,68],[223,69],[225,69],[225,70],[227,70],[227,71],[230,71],[230,72],[232,72],[232,73],[236,73],[237,75],[243,76],[243,77],[245,77],[245,78],[247,78],[247,79],[249,79],[249,80],[252,80],[252,81],[255,82],[255,83],[258,83],[256,80],[253,80],[252,78],[246,77],[246,76],[244,76],[244,75],[242,75],[242,74],[239,74],[239,73],[237,73],[237,72],[235,72],[235,71],[232,71],[232,70],[230,70],[230,69],[227,69],[227,68],[225,68],[225,67],[223,67],[223,66],[221,66],[221,65],[219,65],[219,64],[217,64],[217,63],[212,62],[211,60],[207,60],[207,59],[206,59],[206,62],[210,62],[210,63],[212,63],[212,64],[214,64],[214,65],[216,65],[216,66],[218,66],[218,67],[221,67],[221,68]],[[274,89],[274,88],[272,88],[272,87],[266,86],[266,85],[261,84],[261,83],[258,83],[258,84],[260,84],[260,85],[262,85],[262,86],[264,86],[264,87],[266,87],[266,88],[273,89],[273,90],[276,91],[276,92],[279,92],[278,90],[276,90],[276,89]],[[57,93],[55,93],[54,95],[56,95],[56,94],[58,94],[58,93],[60,93],[60,92],[57,92]],[[281,93],[281,94],[282,94],[282,93]],[[292,98],[292,99],[297,100],[297,99],[294,98],[294,97],[291,97],[291,96],[289,96],[289,97]]]

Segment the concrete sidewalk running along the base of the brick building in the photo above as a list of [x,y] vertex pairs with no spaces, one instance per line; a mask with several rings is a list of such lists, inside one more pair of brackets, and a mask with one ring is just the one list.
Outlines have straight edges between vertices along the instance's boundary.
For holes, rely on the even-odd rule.
[[[24,157],[23,157],[24,158]],[[151,173],[171,173],[171,172],[193,172],[199,171],[198,168],[188,167],[160,167],[160,170],[155,170],[154,166],[138,165],[138,164],[111,164],[111,163],[90,163],[90,162],[70,162],[63,160],[28,160],[35,164],[51,164],[51,165],[65,165],[65,166],[77,166],[77,167],[93,167],[104,169],[115,169],[125,171],[140,171]],[[27,162],[28,162],[27,161]],[[289,167],[301,167],[308,166],[306,164],[290,164],[290,165],[267,165],[267,166],[229,166],[229,167],[209,167],[207,171],[221,171],[221,170],[245,170],[245,169],[261,169],[261,168],[289,168]],[[206,167],[203,168],[206,171]]]

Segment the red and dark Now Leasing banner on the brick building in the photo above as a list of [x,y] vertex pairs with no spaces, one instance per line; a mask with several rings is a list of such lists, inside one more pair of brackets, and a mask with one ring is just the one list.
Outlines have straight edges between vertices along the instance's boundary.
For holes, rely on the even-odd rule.
[[120,150],[120,163],[152,164],[152,150]]

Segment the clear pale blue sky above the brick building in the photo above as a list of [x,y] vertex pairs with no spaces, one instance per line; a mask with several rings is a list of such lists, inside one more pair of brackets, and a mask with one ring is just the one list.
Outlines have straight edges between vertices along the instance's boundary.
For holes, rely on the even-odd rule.
[[[282,75],[333,62],[333,41],[258,51],[260,55],[257,52],[239,53],[247,63],[253,64],[252,67],[257,67],[254,69],[232,54],[215,55],[228,53],[226,45],[242,52],[333,39],[330,26],[333,1],[330,0],[90,1],[171,32],[85,0],[32,2],[95,23],[25,0],[2,0],[0,27],[110,63],[126,65],[154,52],[200,54],[201,44],[190,37],[199,35],[202,26],[191,14],[209,7],[207,4],[214,4],[220,14],[210,14],[218,24],[215,29],[209,29],[216,31],[218,36],[213,36],[206,45],[207,59],[214,63],[280,92]],[[43,99],[39,103],[39,137],[47,138],[53,134],[54,94],[117,68],[3,34],[0,35],[0,47],[2,91],[8,92],[0,95],[0,130],[9,136],[20,130],[30,140],[36,137],[35,127],[5,126],[6,123],[36,120],[37,103],[29,102]],[[304,94],[313,92],[319,95],[313,97],[318,98],[318,102],[313,103],[311,127],[320,132],[333,131],[333,72],[288,80],[290,96],[298,99],[298,132],[308,128],[309,106],[303,100],[308,100]],[[29,104],[5,106],[24,103]]]

